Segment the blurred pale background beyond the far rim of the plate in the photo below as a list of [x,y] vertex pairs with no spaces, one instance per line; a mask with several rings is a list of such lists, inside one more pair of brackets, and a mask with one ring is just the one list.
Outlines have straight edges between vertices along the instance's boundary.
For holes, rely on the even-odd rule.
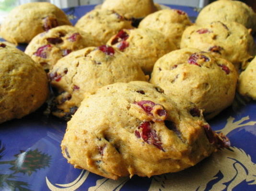
[[[88,5],[88,4],[99,4],[104,0],[0,0],[0,23],[3,18],[11,11],[14,7],[28,2],[36,2],[36,1],[48,1],[59,8],[67,8],[74,7],[80,5]],[[211,3],[214,0],[154,0],[156,3],[162,4],[173,4],[173,5],[184,5],[190,7],[202,8],[205,5]],[[242,0],[251,6],[254,11],[256,11],[256,0]]]

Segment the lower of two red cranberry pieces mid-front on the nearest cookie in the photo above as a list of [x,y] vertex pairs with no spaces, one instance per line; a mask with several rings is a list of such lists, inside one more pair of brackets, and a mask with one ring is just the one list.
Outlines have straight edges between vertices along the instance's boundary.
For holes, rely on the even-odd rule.
[[138,127],[138,130],[134,131],[134,134],[137,138],[141,137],[146,143],[154,145],[157,149],[163,150],[163,143],[156,134],[156,131],[154,129],[151,129],[151,122],[146,121],[141,123]]

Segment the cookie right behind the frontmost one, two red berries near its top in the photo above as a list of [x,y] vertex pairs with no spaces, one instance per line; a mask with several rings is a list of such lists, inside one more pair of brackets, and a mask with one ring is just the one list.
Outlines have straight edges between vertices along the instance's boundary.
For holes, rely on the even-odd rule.
[[168,96],[194,103],[209,119],[232,104],[237,78],[233,64],[221,56],[184,48],[161,57],[150,82]]

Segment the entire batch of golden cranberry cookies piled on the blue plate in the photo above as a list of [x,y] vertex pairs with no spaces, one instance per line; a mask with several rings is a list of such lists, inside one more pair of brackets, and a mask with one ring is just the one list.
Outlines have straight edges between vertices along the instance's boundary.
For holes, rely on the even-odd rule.
[[184,170],[230,146],[206,120],[237,86],[256,99],[256,13],[240,1],[211,3],[194,24],[152,0],[105,0],[75,26],[50,3],[10,15],[0,35],[29,44],[25,53],[0,44],[0,122],[41,106],[48,76],[75,168],[111,179]]

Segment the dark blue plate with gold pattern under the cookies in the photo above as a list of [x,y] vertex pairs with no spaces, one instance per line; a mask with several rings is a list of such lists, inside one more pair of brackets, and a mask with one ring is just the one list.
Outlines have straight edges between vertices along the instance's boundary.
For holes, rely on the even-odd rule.
[[[74,24],[94,6],[65,9]],[[186,11],[193,21],[193,8]],[[24,50],[24,46],[19,46]],[[221,101],[221,100],[220,100]],[[1,191],[256,191],[256,102],[237,96],[233,107],[209,121],[230,138],[232,147],[196,166],[151,178],[109,180],[74,169],[62,157],[60,142],[66,122],[35,113],[0,124]]]

